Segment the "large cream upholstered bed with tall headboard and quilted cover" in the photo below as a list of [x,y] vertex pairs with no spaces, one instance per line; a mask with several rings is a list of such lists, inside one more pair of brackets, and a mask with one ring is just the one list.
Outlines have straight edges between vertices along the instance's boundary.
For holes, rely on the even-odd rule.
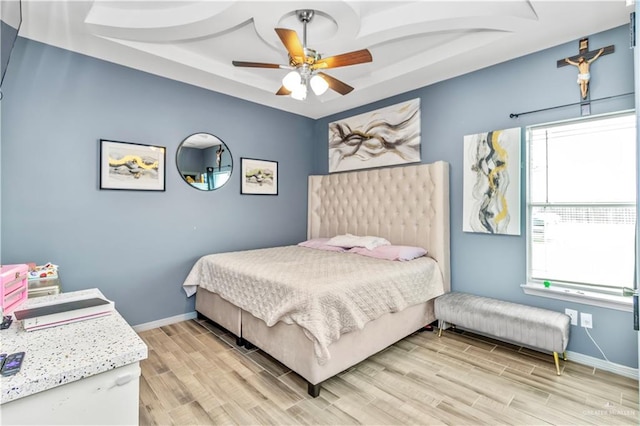
[[375,236],[427,256],[398,262],[298,245],[217,253],[199,259],[183,286],[199,315],[299,374],[316,397],[323,381],[435,321],[433,301],[450,291],[449,166],[310,176],[308,184],[308,240]]

